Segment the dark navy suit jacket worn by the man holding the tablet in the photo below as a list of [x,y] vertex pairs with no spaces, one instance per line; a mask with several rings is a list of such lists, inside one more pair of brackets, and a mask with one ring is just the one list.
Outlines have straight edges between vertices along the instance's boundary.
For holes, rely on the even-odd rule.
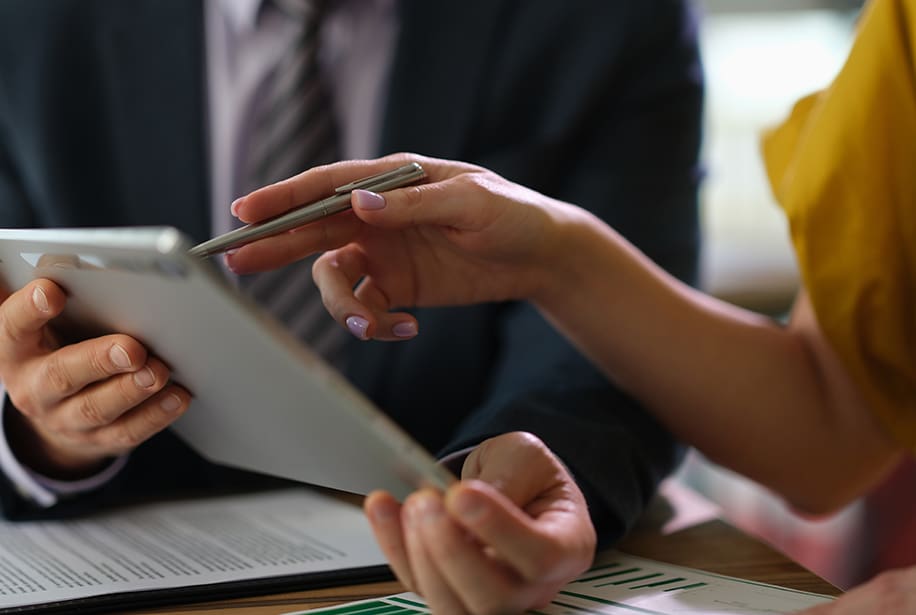
[[[202,32],[188,0],[0,3],[0,224],[206,238]],[[597,212],[693,280],[701,98],[684,2],[404,0],[379,153],[485,165]],[[354,343],[351,380],[439,454],[536,433],[619,536],[677,460],[669,434],[528,305],[417,315],[414,341]],[[165,433],[92,500],[220,472]],[[38,514],[9,485],[0,497],[7,515]]]

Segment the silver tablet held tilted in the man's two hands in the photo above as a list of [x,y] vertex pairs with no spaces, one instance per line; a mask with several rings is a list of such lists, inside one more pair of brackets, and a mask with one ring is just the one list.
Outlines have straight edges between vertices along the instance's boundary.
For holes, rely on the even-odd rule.
[[168,227],[0,229],[0,276],[54,280],[62,325],[126,333],[162,358],[194,395],[173,428],[211,461],[399,498],[454,480],[191,245]]

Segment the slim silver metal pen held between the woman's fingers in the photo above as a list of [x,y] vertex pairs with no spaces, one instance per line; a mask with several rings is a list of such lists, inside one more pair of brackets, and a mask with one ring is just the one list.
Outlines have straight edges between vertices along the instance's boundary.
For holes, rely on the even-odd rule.
[[384,192],[385,190],[392,190],[412,184],[423,177],[426,177],[426,172],[423,170],[423,167],[416,162],[411,162],[410,164],[392,169],[391,171],[385,171],[378,175],[358,179],[337,188],[333,196],[321,199],[315,203],[308,203],[302,207],[280,214],[275,218],[248,224],[229,231],[228,233],[197,244],[188,250],[188,253],[192,256],[206,258],[232,248],[238,248],[258,239],[263,239],[264,237],[279,235],[280,233],[292,230],[303,224],[308,224],[309,222],[320,220],[325,216],[330,216],[350,209],[350,193],[354,190]]

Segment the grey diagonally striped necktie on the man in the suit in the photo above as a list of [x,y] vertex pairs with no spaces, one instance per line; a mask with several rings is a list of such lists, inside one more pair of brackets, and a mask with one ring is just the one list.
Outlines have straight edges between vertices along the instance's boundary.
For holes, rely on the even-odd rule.
[[[253,102],[254,130],[244,165],[254,189],[337,159],[331,98],[318,67],[319,29],[326,0],[269,0],[302,24],[262,96]],[[342,366],[345,332],[324,310],[312,281],[314,258],[240,279],[240,287],[313,350]]]

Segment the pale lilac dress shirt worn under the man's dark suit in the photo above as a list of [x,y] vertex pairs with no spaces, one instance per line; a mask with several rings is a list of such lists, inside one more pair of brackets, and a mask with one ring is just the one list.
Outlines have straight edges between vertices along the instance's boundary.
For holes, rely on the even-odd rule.
[[[204,0],[207,69],[207,136],[210,155],[213,234],[232,227],[229,205],[241,196],[240,170],[251,139],[252,110],[272,79],[280,55],[291,47],[301,24],[269,0]],[[319,62],[331,90],[345,159],[377,155],[388,73],[398,34],[396,0],[335,0],[322,27]],[[4,391],[0,385],[0,395]],[[3,403],[3,407],[6,402]],[[0,470],[36,505],[53,506],[61,496],[95,489],[111,480],[127,455],[95,476],[57,481],[26,468],[13,455],[0,407]],[[193,408],[192,410],[193,411]]]

